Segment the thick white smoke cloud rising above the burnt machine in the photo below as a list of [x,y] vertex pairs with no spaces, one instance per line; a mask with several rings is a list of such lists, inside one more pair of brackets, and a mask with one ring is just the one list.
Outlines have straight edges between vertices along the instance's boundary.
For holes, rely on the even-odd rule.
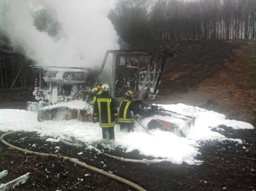
[[41,66],[100,66],[118,49],[107,0],[0,0],[0,29],[11,46]]

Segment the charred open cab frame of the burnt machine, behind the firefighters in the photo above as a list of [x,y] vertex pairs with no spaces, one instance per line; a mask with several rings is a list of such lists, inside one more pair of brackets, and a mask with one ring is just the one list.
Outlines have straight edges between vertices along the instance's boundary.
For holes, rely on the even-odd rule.
[[[134,101],[154,98],[163,73],[165,61],[175,52],[169,49],[109,50],[112,53],[111,96],[120,101],[127,90],[132,90]],[[105,65],[105,59],[101,70]],[[100,71],[101,76],[101,71]],[[99,77],[100,77],[99,76]],[[97,84],[100,79],[96,80]]]

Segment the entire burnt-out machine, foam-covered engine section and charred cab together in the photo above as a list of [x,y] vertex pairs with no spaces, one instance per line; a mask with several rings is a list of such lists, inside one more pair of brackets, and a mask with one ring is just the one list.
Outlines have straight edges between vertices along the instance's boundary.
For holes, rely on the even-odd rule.
[[[140,115],[147,117],[156,113],[163,114],[161,108],[144,104],[143,99],[155,98],[165,62],[175,54],[175,51],[167,48],[108,50],[99,70],[31,65],[35,72],[33,94],[39,102],[28,102],[27,110],[37,111],[39,121],[92,121],[93,108],[88,103],[88,96],[96,85],[108,83],[109,94],[115,98],[118,106],[127,90],[132,90]],[[103,71],[108,58],[112,69],[107,76]],[[191,120],[189,116],[190,124]]]

